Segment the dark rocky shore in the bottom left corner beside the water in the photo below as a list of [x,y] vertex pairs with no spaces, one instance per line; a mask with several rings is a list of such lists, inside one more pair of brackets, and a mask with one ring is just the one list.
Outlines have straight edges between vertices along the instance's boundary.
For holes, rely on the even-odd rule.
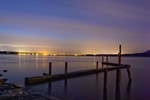
[[60,100],[32,89],[26,89],[12,83],[0,84],[0,100]]

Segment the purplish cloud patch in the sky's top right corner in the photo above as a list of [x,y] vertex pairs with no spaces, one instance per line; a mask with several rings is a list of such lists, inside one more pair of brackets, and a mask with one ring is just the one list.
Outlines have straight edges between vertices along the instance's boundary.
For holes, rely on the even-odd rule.
[[79,7],[89,15],[99,16],[99,18],[104,14],[107,17],[119,19],[150,21],[149,6],[140,6],[130,2],[93,0],[79,4]]

